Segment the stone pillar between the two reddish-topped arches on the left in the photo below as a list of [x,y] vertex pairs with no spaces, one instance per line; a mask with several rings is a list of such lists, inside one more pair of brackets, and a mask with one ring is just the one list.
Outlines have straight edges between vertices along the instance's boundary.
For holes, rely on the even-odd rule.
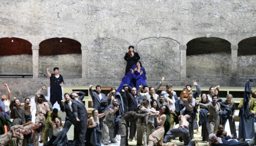
[[38,78],[39,74],[39,46],[32,46],[33,78]]

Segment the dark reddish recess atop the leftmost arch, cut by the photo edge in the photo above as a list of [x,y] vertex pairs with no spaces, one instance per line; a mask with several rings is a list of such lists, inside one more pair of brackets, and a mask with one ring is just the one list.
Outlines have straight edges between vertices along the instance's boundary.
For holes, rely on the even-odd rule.
[[[12,42],[13,40],[13,42]],[[0,56],[32,54],[32,44],[20,38],[1,38]]]

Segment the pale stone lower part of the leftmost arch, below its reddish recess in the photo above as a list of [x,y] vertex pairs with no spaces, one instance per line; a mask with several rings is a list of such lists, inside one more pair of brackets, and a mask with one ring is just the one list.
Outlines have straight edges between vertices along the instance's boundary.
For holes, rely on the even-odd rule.
[[0,56],[0,74],[33,74],[32,55]]

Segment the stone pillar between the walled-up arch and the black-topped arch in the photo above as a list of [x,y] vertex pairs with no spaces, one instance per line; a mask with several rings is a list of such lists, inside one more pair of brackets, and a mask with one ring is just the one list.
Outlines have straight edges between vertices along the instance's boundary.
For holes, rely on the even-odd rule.
[[186,78],[186,52],[187,46],[180,45],[180,77]]

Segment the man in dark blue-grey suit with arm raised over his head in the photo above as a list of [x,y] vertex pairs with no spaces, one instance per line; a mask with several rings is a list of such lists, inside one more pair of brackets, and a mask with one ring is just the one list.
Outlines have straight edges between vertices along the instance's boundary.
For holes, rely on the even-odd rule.
[[79,131],[77,131],[79,135],[77,135],[77,144],[76,144],[79,146],[84,145],[84,140],[86,139],[88,113],[87,113],[86,107],[82,102],[83,97],[85,95],[86,94],[81,91],[72,92],[70,94],[71,98],[73,99],[73,102],[72,102],[73,113],[75,114],[77,126],[79,127]]

